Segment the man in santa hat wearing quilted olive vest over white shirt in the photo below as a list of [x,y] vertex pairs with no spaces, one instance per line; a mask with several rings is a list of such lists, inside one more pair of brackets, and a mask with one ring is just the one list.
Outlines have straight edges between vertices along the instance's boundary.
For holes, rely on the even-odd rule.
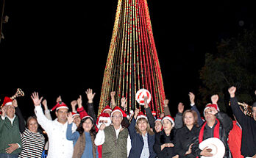
[[115,107],[110,115],[112,124],[100,126],[94,143],[96,146],[102,145],[102,157],[128,157],[131,140],[128,129],[121,126],[123,117],[127,117],[125,112],[120,107]]

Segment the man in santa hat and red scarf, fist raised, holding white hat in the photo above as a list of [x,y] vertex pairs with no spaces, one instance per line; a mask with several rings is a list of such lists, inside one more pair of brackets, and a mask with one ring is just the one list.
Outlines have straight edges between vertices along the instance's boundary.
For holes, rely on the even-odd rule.
[[200,129],[196,143],[192,146],[192,152],[197,157],[213,156],[213,154],[207,151],[207,148],[204,148],[203,150],[199,149],[199,143],[202,143],[202,141],[207,138],[216,137],[224,143],[224,158],[232,157],[230,154],[230,148],[227,144],[227,137],[232,129],[232,119],[227,114],[219,111],[217,105],[218,95],[213,95],[211,100],[213,103],[207,104],[204,109],[205,123],[203,123]]

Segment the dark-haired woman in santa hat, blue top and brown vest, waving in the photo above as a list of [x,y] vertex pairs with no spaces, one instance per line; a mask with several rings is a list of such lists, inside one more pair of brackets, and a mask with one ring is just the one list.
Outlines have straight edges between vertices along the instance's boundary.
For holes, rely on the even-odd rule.
[[71,112],[68,114],[68,129],[66,137],[68,140],[74,141],[74,158],[98,158],[97,147],[94,144],[96,130],[93,124],[93,118],[85,114],[81,116],[81,123],[77,127],[77,131],[72,133],[72,123],[74,117]]

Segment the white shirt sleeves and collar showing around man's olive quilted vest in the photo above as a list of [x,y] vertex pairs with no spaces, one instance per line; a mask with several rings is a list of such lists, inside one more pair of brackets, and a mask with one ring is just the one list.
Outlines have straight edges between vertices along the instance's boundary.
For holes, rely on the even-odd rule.
[[[114,128],[116,138],[118,138],[118,134],[119,134],[121,128],[122,128],[121,125],[120,125],[119,129]],[[104,141],[105,141],[104,130],[99,129],[99,132],[96,134],[94,143],[95,143],[96,146],[101,146],[104,143]],[[129,151],[131,150],[131,148],[132,148],[131,138],[129,137],[129,134],[128,134],[128,137],[127,137],[127,157],[129,157]]]

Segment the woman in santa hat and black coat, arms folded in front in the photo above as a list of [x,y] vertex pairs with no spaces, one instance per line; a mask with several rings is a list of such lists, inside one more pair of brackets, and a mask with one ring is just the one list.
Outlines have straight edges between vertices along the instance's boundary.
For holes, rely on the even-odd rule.
[[174,152],[174,119],[170,115],[162,119],[163,130],[155,135],[154,151],[158,158],[178,157]]

